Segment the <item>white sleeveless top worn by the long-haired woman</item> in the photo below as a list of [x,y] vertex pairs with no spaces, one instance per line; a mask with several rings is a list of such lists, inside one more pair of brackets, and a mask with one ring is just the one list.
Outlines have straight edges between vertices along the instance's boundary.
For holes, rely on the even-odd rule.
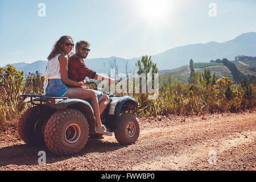
[[51,60],[48,61],[46,65],[46,80],[44,80],[44,94],[46,94],[48,79],[61,79],[60,63],[58,60],[60,55],[61,54],[53,57]]

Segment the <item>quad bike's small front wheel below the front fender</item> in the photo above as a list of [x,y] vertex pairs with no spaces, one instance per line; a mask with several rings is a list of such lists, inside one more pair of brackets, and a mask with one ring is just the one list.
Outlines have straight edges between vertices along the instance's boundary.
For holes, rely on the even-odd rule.
[[134,114],[125,113],[121,115],[118,129],[115,130],[115,138],[121,144],[131,144],[139,137],[139,123]]

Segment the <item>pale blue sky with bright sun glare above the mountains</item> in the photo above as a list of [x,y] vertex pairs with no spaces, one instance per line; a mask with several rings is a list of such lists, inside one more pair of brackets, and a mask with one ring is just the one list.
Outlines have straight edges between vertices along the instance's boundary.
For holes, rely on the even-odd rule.
[[[38,16],[39,3],[46,16]],[[209,16],[210,3],[217,16]],[[90,42],[89,59],[225,42],[256,31],[255,7],[255,0],[0,0],[0,67],[46,60],[63,35]]]

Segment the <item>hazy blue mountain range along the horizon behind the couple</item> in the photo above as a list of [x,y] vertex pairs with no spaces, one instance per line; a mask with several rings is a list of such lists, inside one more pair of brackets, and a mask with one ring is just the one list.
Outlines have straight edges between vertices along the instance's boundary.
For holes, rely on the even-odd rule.
[[[194,63],[209,62],[210,60],[223,59],[234,60],[237,55],[253,56],[256,53],[256,32],[248,32],[237,36],[235,39],[223,43],[208,42],[189,44],[186,46],[169,49],[157,55],[152,55],[151,60],[156,63],[159,71],[175,69],[189,64],[189,60]],[[150,56],[150,55],[148,55]],[[141,56],[142,57],[142,56]],[[117,68],[118,73],[136,73],[135,63],[141,59],[122,59],[121,57],[85,59],[85,64],[98,73],[109,75],[110,68]],[[44,75],[47,61],[35,61],[34,63],[16,63],[13,65],[18,71],[28,72],[39,71]],[[6,65],[7,66],[7,65]],[[6,67],[5,66],[5,67]]]

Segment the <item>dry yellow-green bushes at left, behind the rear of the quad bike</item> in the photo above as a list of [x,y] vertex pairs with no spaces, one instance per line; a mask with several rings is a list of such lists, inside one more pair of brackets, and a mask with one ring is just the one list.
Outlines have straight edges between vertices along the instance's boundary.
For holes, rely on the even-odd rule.
[[39,72],[27,76],[26,82],[23,79],[24,72],[12,65],[0,68],[0,129],[5,128],[6,120],[20,117],[27,109],[21,94],[43,94],[44,76]]

